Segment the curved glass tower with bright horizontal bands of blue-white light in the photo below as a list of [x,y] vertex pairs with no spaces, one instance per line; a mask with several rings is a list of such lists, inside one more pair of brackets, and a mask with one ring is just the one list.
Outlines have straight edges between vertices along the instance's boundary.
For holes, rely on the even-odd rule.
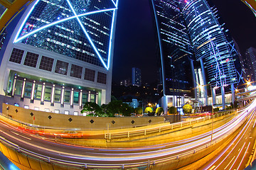
[[211,84],[213,89],[221,87],[224,95],[224,86],[231,84],[233,91],[233,84],[238,83],[233,56],[235,47],[230,45],[225,29],[218,22],[218,11],[211,8],[206,0],[182,0],[180,6],[196,60],[201,62],[205,89],[206,84]]

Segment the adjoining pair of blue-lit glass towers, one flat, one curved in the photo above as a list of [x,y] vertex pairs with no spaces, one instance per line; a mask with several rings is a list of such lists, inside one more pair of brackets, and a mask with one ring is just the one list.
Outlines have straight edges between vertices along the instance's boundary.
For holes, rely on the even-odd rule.
[[171,101],[173,106],[181,106],[183,96],[193,96],[188,91],[195,89],[194,97],[201,97],[208,105],[210,86],[213,103],[218,87],[225,101],[224,87],[231,86],[233,91],[234,84],[238,83],[235,69],[238,57],[235,57],[235,44],[218,21],[218,11],[206,0],[152,0],[152,4],[159,36],[164,96],[174,96],[162,102]]

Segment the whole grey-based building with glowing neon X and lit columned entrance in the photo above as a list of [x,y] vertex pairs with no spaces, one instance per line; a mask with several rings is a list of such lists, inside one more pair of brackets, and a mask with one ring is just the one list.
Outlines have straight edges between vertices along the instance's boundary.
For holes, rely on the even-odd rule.
[[109,103],[117,0],[37,0],[21,16],[1,62],[4,102],[80,115]]

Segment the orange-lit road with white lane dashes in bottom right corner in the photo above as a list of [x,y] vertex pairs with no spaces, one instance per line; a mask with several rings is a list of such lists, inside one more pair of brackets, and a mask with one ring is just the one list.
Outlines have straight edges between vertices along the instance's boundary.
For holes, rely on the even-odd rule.
[[255,159],[256,116],[252,111],[250,119],[238,135],[218,154],[208,161],[201,169],[245,169]]

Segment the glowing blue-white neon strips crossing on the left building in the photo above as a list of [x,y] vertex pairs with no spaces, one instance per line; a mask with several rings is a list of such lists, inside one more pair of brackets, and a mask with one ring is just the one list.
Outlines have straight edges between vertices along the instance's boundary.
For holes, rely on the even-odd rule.
[[[115,11],[117,10],[117,4],[118,4],[118,0],[116,1],[116,3],[114,3],[114,0],[112,0],[112,3],[114,4],[114,6],[116,8],[109,8],[109,9],[102,9],[102,10],[98,10],[98,11],[92,11],[92,12],[87,12],[87,13],[82,13],[82,14],[79,14],[77,15],[77,13],[75,13],[75,10],[72,6],[72,4],[70,4],[70,1],[67,0],[68,2],[68,5],[70,6],[71,10],[73,11],[73,14],[74,16],[70,16],[68,18],[64,18],[62,20],[59,20],[59,21],[55,21],[53,23],[49,23],[49,24],[46,24],[46,26],[42,26],[41,28],[38,28],[36,30],[33,30],[31,31],[30,33],[27,33],[26,35],[23,35],[21,36],[20,38],[18,38],[18,35],[20,35],[21,33],[21,29],[23,28],[23,26],[25,25],[25,22],[27,21],[28,19],[28,16],[31,14],[31,12],[33,11],[33,8],[36,6],[36,4],[38,4],[38,1],[40,0],[37,0],[36,3],[32,6],[31,10],[28,12],[26,18],[24,19],[23,23],[21,24],[21,27],[18,29],[18,33],[16,34],[16,37],[14,38],[14,43],[15,42],[18,42],[18,41],[21,41],[23,40],[24,38],[27,38],[28,36],[30,35],[33,35],[34,33],[37,33],[38,31],[40,30],[43,30],[45,28],[48,28],[50,26],[54,26],[58,23],[62,23],[62,22],[65,22],[65,21],[68,21],[70,19],[74,19],[76,18],[78,20],[78,23],[80,24],[83,32],[85,33],[87,39],[89,40],[90,42],[90,45],[92,45],[92,48],[93,50],[95,50],[97,56],[99,57],[100,61],[102,62],[103,66],[108,70],[110,69],[110,56],[111,56],[111,47],[112,47],[112,36],[113,36],[113,28],[114,28],[114,16],[115,16]],[[91,15],[91,14],[95,14],[95,13],[102,13],[102,12],[107,12],[107,11],[113,11],[113,16],[112,16],[112,26],[111,26],[111,32],[110,32],[110,46],[109,46],[109,54],[108,54],[108,60],[107,60],[107,65],[106,63],[104,62],[104,60],[102,59],[101,55],[100,55],[100,52],[98,52],[97,48],[95,47],[94,43],[92,42],[92,39],[90,38],[90,35],[87,33],[85,27],[82,25],[82,22],[80,21],[80,18],[81,16],[87,16],[87,15]]]

